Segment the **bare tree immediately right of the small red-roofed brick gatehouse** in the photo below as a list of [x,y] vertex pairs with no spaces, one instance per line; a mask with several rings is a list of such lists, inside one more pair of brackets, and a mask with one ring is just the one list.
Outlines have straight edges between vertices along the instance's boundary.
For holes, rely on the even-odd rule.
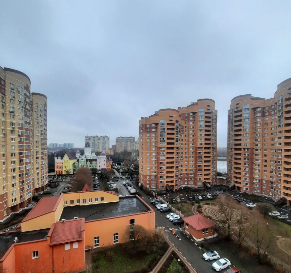
[[231,228],[237,221],[238,205],[229,196],[219,197],[216,204],[219,206],[220,214],[213,214],[212,220],[219,226],[226,239],[230,240]]

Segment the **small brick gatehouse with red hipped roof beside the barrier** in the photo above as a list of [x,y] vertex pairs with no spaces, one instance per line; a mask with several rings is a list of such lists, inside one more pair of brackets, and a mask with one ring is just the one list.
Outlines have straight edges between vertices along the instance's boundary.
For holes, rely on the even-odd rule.
[[184,220],[185,232],[196,241],[202,241],[217,236],[215,233],[215,223],[208,220],[201,214],[195,214]]

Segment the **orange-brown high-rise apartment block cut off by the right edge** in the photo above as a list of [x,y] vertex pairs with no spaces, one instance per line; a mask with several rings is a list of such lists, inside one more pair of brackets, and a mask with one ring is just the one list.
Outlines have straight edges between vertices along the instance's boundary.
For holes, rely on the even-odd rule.
[[274,98],[233,98],[228,110],[229,184],[236,190],[286,197],[291,205],[291,78]]

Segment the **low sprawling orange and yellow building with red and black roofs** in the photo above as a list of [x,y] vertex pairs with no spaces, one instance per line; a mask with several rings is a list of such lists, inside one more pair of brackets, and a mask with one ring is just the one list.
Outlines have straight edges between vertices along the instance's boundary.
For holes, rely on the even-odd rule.
[[0,234],[0,270],[82,270],[85,249],[129,241],[136,224],[155,230],[154,210],[136,195],[84,188],[44,197],[18,225],[21,231]]

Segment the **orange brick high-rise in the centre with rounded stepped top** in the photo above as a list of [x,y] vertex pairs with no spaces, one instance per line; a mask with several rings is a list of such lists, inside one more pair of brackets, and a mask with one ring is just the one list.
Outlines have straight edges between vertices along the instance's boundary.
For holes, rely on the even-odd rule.
[[139,174],[143,186],[161,190],[215,184],[216,124],[212,99],[142,117]]

